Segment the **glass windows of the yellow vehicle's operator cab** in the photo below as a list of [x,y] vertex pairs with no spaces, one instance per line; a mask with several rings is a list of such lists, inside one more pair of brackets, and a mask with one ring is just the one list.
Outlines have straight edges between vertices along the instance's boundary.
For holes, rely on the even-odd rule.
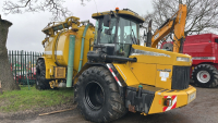
[[[106,33],[106,32],[110,33]],[[102,19],[96,21],[95,44],[114,46],[117,56],[129,57],[131,45],[138,45],[138,24],[124,17],[112,17],[110,26]]]

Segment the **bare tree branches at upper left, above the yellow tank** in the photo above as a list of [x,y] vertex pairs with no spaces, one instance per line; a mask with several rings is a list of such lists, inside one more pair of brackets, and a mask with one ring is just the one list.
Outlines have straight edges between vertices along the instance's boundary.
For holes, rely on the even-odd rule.
[[[84,1],[90,0],[81,0],[81,4],[85,5]],[[72,14],[66,7],[63,7],[64,2],[64,0],[5,0],[3,11],[4,14],[48,11],[52,13],[52,20],[57,21]]]

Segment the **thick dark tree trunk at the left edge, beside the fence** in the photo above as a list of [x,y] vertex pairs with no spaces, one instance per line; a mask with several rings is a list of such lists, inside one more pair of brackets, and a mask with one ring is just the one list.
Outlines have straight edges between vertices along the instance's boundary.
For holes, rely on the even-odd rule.
[[19,85],[14,82],[13,75],[10,69],[8,50],[5,47],[9,27],[11,22],[1,20],[0,15],[0,81],[2,83],[3,90],[20,89]]

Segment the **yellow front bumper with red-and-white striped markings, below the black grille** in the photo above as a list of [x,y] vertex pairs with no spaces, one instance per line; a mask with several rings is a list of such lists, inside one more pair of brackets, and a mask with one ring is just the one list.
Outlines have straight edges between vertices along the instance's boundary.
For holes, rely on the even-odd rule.
[[[190,103],[191,101],[193,101],[196,98],[196,89],[192,86],[190,86],[189,88],[184,89],[184,90],[159,90],[155,93],[155,98],[153,100],[152,107],[149,109],[148,114],[152,113],[160,113],[160,112],[165,112],[164,108],[166,106],[164,106],[164,97],[165,96],[177,96],[177,107],[183,107],[186,106],[187,103]],[[193,98],[191,99],[190,96],[193,96]],[[191,100],[190,100],[191,99]],[[170,107],[169,107],[170,109]]]

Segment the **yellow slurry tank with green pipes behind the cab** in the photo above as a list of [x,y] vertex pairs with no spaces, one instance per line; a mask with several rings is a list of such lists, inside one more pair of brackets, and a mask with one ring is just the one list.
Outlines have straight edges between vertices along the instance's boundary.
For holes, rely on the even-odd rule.
[[[87,62],[86,56],[94,42],[95,27],[88,21],[78,22],[78,17],[71,16],[58,24],[49,23],[43,29],[47,37],[43,41],[43,46],[45,47],[44,57],[38,59],[38,64],[43,65],[37,65],[38,76],[40,76],[36,83],[37,88],[53,88],[58,86],[58,82],[65,81],[69,52],[73,53],[71,62],[71,66],[73,67],[72,77]],[[74,36],[75,38],[71,46],[70,36]],[[50,85],[45,83],[48,81]]]

